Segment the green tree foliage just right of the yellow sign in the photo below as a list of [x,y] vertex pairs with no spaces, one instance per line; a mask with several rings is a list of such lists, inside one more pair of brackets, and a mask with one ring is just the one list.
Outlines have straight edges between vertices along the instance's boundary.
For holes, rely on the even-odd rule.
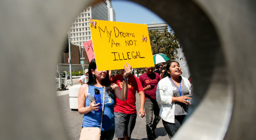
[[150,30],[149,36],[153,55],[162,53],[171,60],[176,58],[180,44],[172,30],[168,32],[167,28],[165,28],[164,33]]

